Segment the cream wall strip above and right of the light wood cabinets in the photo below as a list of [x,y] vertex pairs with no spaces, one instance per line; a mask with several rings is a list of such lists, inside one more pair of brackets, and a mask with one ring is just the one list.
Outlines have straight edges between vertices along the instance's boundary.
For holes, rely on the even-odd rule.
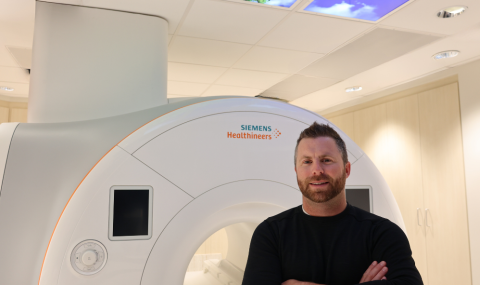
[[473,285],[480,285],[480,60],[472,61],[320,112],[320,115],[396,94],[443,78],[458,77]]

